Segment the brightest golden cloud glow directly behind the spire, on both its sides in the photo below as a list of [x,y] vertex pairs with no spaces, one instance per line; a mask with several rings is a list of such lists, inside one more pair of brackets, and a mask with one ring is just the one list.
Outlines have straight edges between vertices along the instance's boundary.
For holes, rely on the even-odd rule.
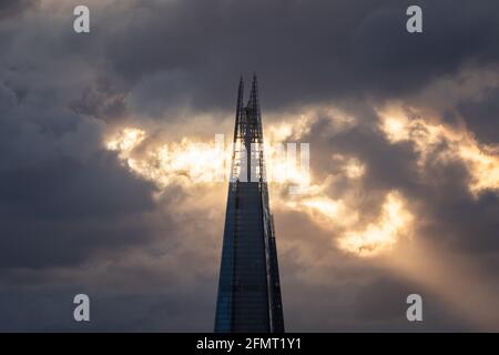
[[[223,140],[204,143],[187,138],[180,143],[157,143],[150,142],[146,138],[144,131],[126,128],[108,138],[105,145],[109,150],[118,151],[120,159],[134,173],[161,189],[172,183],[228,181],[232,144],[225,144]],[[296,159],[289,159],[289,148],[285,144],[265,144],[268,182],[308,184],[309,171],[301,166],[301,144],[296,145]]]

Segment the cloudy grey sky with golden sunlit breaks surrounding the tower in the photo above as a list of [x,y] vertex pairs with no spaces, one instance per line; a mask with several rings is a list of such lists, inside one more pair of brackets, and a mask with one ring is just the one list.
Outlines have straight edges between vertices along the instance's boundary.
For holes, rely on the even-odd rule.
[[498,41],[497,0],[0,1],[0,331],[213,331],[253,73],[309,144],[302,194],[267,162],[286,331],[499,331]]

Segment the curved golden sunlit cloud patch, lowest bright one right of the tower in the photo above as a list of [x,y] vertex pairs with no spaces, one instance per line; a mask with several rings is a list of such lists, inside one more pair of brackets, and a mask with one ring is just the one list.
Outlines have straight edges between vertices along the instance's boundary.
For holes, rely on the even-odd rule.
[[385,199],[379,219],[361,231],[346,232],[338,245],[358,256],[377,255],[391,250],[400,237],[409,235],[413,220],[401,195],[393,191]]

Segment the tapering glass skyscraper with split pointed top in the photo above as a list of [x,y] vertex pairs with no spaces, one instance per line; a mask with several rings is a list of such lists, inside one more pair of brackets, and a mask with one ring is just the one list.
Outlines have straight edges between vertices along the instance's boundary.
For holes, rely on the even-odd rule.
[[240,82],[215,332],[284,332],[274,222],[268,206],[256,75]]

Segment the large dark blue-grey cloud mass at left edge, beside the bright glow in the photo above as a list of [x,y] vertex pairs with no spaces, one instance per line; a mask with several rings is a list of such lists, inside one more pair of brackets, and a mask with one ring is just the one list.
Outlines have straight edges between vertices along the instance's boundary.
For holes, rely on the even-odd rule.
[[57,95],[0,89],[0,267],[73,265],[145,240],[153,187],[101,151],[100,124],[58,108]]

